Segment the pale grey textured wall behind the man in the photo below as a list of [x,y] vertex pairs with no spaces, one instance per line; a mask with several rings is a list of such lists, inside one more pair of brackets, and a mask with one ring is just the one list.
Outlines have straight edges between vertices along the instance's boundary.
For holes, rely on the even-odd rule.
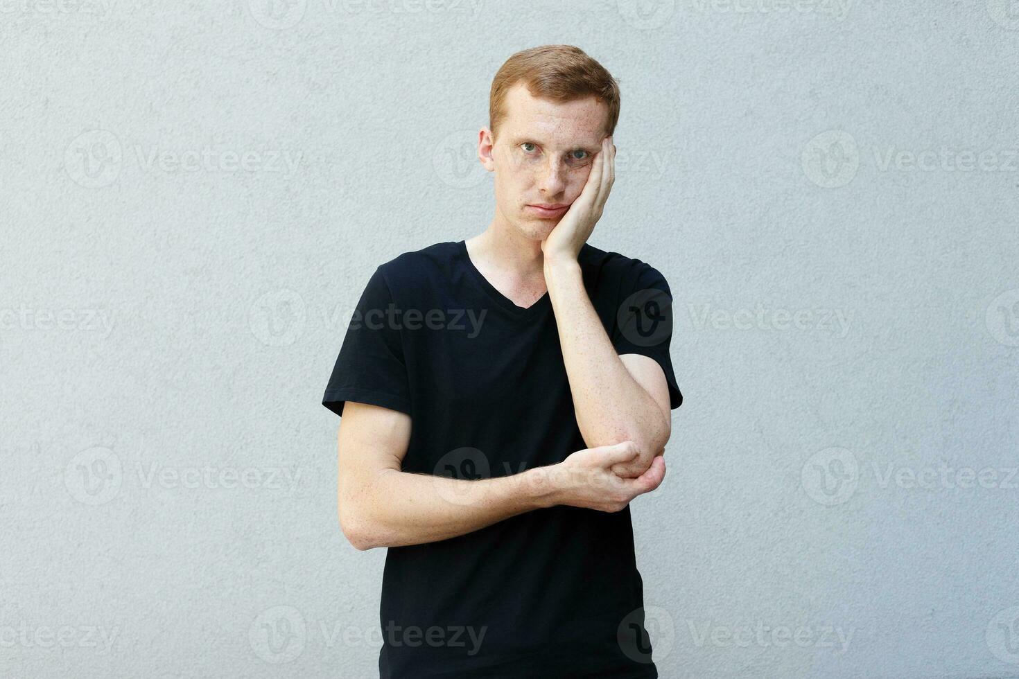
[[320,399],[547,43],[675,295],[661,676],[1019,676],[1014,0],[0,0],[0,676],[377,676]]

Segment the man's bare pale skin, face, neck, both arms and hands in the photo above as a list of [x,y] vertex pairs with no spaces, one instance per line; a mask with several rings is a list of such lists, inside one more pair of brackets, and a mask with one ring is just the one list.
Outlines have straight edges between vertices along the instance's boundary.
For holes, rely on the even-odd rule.
[[[359,550],[446,540],[555,505],[620,511],[664,478],[672,429],[664,374],[647,356],[615,353],[577,261],[614,181],[607,107],[593,98],[536,99],[523,86],[505,103],[498,137],[487,127],[479,133],[479,158],[495,172],[496,213],[468,239],[468,251],[519,306],[547,291],[588,448],[496,478],[410,473],[401,470],[410,415],[347,401],[337,434],[337,511]],[[527,208],[535,204],[569,210],[549,217]]]

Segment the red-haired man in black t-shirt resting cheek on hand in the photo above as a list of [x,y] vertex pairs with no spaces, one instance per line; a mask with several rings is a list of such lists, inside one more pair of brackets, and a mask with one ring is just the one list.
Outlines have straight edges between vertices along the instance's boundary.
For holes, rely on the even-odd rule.
[[488,229],[381,265],[358,303],[322,403],[342,530],[389,548],[383,678],[658,676],[628,503],[683,396],[665,279],[586,242],[619,109],[582,50],[515,54],[478,139]]

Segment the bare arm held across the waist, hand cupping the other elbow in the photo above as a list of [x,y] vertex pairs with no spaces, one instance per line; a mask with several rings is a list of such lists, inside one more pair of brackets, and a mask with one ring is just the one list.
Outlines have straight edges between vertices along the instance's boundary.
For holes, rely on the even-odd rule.
[[400,469],[411,440],[411,416],[346,401],[337,434],[337,512],[359,550],[447,540],[534,509],[564,504],[619,511],[654,490],[664,459],[637,478],[612,465],[639,454],[623,442],[578,451],[564,462],[496,478],[465,480]]

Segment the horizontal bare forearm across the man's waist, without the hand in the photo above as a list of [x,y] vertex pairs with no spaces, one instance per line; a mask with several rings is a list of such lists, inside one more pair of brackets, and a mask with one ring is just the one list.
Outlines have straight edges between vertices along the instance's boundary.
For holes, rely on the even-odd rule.
[[384,469],[361,491],[359,549],[447,540],[554,501],[541,467],[477,480]]

